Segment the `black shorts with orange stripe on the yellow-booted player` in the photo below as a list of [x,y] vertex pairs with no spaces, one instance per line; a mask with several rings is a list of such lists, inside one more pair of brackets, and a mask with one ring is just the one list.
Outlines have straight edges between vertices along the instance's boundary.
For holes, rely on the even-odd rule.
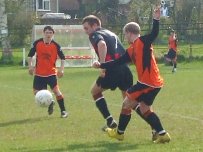
[[151,106],[160,90],[161,88],[153,88],[137,82],[137,84],[127,90],[127,96],[130,100],[142,101],[146,105]]

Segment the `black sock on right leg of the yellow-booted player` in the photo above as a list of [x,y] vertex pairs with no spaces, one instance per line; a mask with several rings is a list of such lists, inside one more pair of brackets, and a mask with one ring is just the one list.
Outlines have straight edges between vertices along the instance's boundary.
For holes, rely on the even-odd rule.
[[154,112],[147,116],[146,121],[156,130],[156,132],[164,130],[159,117]]

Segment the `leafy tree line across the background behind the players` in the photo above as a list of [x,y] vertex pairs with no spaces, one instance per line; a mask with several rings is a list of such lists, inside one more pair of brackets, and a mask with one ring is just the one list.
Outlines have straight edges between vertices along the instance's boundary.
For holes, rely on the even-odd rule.
[[[171,1],[172,5],[164,4],[169,8],[169,14],[161,18],[162,30],[167,33],[174,29],[183,40],[198,37],[192,40],[202,41],[203,0]],[[12,59],[11,48],[29,44],[33,25],[40,24],[34,12],[25,11],[24,2],[25,0],[0,0],[0,40],[3,48],[1,60]],[[102,19],[103,26],[116,30],[121,37],[122,26],[129,21],[138,22],[148,32],[151,29],[152,11],[160,4],[160,0],[131,0],[128,5],[119,4],[119,0],[98,0],[91,2],[92,4],[84,4],[81,0],[79,2],[78,18],[95,14]]]

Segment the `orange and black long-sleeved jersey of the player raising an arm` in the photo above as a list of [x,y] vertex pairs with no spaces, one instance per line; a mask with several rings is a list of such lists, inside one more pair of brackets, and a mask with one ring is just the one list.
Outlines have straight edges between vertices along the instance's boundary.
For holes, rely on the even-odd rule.
[[158,32],[159,21],[153,20],[153,28],[150,34],[138,37],[121,58],[102,63],[101,68],[110,68],[126,62],[133,62],[136,67],[138,82],[154,88],[162,87],[163,78],[160,76],[152,47],[152,42],[157,37]]

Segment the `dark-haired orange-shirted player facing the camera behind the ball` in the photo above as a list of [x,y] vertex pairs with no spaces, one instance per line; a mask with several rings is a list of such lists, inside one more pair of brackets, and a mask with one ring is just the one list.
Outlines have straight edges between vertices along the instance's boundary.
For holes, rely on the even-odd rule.
[[[51,26],[45,26],[43,33],[44,37],[33,43],[33,47],[28,54],[29,74],[34,75],[34,94],[39,90],[47,89],[47,85],[49,85],[56,96],[56,100],[61,110],[61,117],[66,118],[68,113],[65,109],[64,97],[57,83],[57,76],[60,78],[64,74],[65,56],[60,45],[52,39],[54,36],[54,29]],[[32,59],[35,54],[36,65],[33,65]],[[57,57],[61,59],[61,66],[58,70],[55,66]],[[53,113],[53,107],[54,102],[48,107],[49,115]]]

